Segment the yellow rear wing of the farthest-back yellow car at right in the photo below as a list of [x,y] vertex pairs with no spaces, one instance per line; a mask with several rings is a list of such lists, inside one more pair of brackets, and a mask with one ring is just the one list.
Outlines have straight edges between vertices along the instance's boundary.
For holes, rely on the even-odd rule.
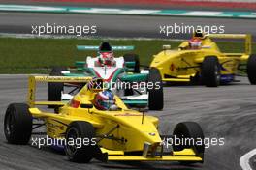
[[251,35],[250,34],[209,34],[209,38],[213,39],[244,39],[245,40],[245,54],[251,54]]

